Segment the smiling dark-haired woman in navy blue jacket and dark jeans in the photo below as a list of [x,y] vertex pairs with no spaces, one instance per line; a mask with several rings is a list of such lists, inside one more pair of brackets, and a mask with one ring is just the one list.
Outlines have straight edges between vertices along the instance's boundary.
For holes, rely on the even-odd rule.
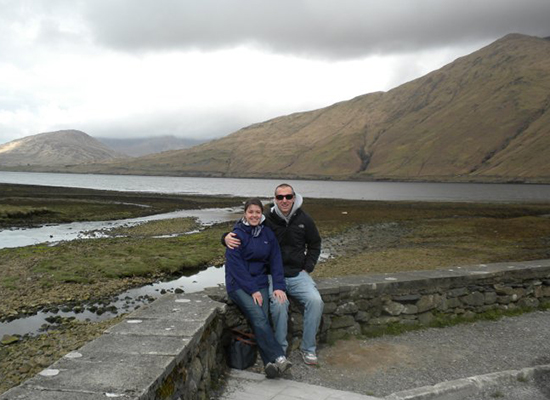
[[279,244],[273,231],[262,224],[264,219],[260,199],[247,200],[244,216],[233,229],[242,245],[225,252],[225,285],[229,298],[252,325],[267,377],[275,378],[292,364],[269,324],[268,274],[275,298],[284,303],[287,297]]

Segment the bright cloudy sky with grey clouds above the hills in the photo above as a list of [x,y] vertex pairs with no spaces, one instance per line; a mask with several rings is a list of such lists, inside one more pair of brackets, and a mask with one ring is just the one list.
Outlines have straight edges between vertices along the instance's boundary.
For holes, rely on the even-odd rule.
[[420,77],[548,0],[0,0],[0,144],[59,129],[211,139]]

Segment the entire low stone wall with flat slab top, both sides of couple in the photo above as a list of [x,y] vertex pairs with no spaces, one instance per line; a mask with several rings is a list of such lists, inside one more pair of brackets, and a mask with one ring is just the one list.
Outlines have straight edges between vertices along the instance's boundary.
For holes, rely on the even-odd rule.
[[[319,340],[550,303],[550,260],[318,280]],[[245,323],[223,288],[165,295],[0,400],[207,399],[226,370],[229,328]],[[299,343],[302,314],[291,305]]]

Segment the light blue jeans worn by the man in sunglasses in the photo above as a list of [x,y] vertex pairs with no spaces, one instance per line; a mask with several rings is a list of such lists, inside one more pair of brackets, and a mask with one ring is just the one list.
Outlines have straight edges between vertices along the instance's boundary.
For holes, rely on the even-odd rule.
[[[271,278],[271,276],[269,276]],[[286,293],[292,298],[298,300],[304,306],[304,330],[302,333],[302,343],[300,349],[315,353],[317,349],[316,335],[321,317],[323,316],[323,299],[317,290],[317,285],[306,271],[300,272],[297,276],[285,278]],[[288,341],[286,339],[288,332],[288,301],[279,303],[273,297],[273,286],[269,280],[270,293],[270,311],[273,325],[275,326],[275,338],[283,347],[286,353]]]

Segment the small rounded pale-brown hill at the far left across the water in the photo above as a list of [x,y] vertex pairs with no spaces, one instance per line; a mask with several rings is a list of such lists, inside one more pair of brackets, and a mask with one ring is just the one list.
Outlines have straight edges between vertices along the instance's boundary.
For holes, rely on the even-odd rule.
[[65,166],[123,157],[84,132],[63,130],[27,136],[0,145],[0,166]]

